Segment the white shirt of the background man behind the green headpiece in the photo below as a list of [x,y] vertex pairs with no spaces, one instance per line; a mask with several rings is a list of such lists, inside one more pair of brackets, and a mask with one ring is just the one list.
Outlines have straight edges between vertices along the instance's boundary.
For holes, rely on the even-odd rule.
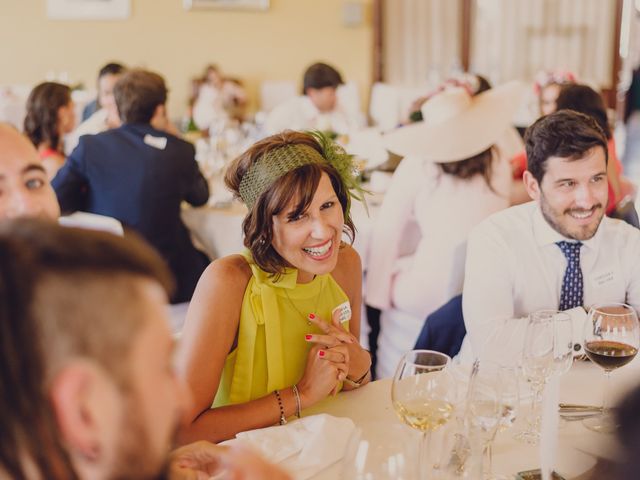
[[348,134],[360,127],[355,118],[338,102],[331,112],[321,112],[306,95],[290,98],[275,107],[267,116],[265,129],[268,134],[282,130],[322,130]]

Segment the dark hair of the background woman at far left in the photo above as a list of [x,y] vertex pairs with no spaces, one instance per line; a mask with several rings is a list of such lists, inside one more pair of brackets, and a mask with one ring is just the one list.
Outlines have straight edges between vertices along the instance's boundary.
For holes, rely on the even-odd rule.
[[60,146],[58,110],[71,102],[71,89],[55,82],[37,85],[27,98],[24,132],[36,148],[48,143],[53,150]]

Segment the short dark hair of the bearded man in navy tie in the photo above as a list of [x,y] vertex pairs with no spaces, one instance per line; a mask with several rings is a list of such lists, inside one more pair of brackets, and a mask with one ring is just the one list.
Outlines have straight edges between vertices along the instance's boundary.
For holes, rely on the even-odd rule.
[[559,110],[539,118],[524,135],[527,170],[538,183],[546,172],[549,157],[583,158],[594,147],[602,147],[608,161],[607,138],[598,123],[573,110]]

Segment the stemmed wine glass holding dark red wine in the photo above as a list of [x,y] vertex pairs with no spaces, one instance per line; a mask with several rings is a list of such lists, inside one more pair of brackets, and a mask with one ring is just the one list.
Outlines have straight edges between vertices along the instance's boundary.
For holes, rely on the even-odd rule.
[[584,332],[584,351],[587,357],[604,369],[605,386],[602,395],[602,414],[582,423],[596,432],[613,433],[614,416],[608,406],[611,372],[629,363],[638,353],[640,327],[635,310],[624,303],[605,303],[591,307]]

